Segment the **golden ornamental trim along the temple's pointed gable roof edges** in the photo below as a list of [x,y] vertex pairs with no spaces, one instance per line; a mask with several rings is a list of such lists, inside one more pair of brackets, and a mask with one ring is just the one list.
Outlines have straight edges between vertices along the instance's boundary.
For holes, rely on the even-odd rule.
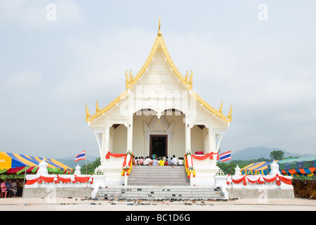
[[160,16],[159,16],[159,28],[158,28],[157,36],[156,36],[156,39],[154,40],[154,44],[152,46],[150,54],[147,57],[144,65],[142,65],[142,68],[140,69],[138,74],[135,75],[135,77],[132,75],[131,72],[128,74],[128,72],[126,70],[126,90],[123,91],[117,98],[114,99],[114,101],[109,103],[109,105],[107,105],[106,107],[102,108],[101,110],[99,109],[99,105],[98,105],[98,103],[96,101],[96,112],[95,112],[94,115],[90,115],[89,110],[87,108],[87,104],[85,105],[85,113],[86,113],[85,120],[87,122],[95,120],[95,118],[99,117],[103,113],[106,113],[114,105],[119,103],[119,101],[121,101],[123,98],[125,98],[125,96],[128,94],[128,89],[131,89],[136,84],[136,82],[138,82],[140,77],[142,77],[142,75],[144,74],[144,72],[146,71],[148,66],[150,65],[150,62],[152,61],[154,53],[156,53],[159,45],[162,47],[162,50],[164,51],[164,55],[166,56],[166,60],[168,61],[171,69],[174,71],[174,74],[176,74],[176,76],[178,77],[179,81],[181,81],[184,84],[184,86],[186,86],[186,88],[188,89],[190,94],[193,97],[195,97],[198,102],[200,102],[202,105],[204,105],[205,108],[207,108],[209,111],[214,113],[214,115],[217,115],[217,117],[221,118],[222,120],[224,120],[226,122],[231,122],[231,120],[232,120],[232,118],[231,118],[232,106],[229,109],[229,115],[225,116],[221,112],[221,110],[223,108],[223,103],[221,103],[221,105],[219,107],[219,110],[216,110],[211,105],[209,105],[205,100],[203,100],[199,95],[197,95],[195,91],[192,91],[192,88],[193,88],[193,72],[192,71],[190,72],[190,76],[188,75],[188,71],[186,72],[186,76],[185,77],[183,77],[183,75],[181,75],[181,72],[179,72],[178,68],[176,68],[176,65],[174,65],[174,61],[171,59],[171,56],[170,56],[170,54],[168,52],[168,49],[166,48],[166,43],[164,42],[164,37],[162,36],[162,31],[160,30],[160,27],[161,27],[161,23],[160,23]]

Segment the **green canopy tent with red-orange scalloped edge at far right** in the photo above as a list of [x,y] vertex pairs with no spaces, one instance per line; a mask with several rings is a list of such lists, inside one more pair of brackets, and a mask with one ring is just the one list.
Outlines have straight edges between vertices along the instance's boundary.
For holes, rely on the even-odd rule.
[[315,174],[316,156],[310,158],[291,158],[280,160],[279,170],[288,176],[313,176]]

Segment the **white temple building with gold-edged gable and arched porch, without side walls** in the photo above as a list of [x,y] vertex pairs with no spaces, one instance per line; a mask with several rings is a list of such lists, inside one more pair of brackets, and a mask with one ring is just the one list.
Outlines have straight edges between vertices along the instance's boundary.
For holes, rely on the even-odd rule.
[[[125,71],[125,90],[104,108],[96,101],[93,115],[85,107],[85,120],[97,139],[105,172],[115,167],[113,160],[106,159],[108,152],[130,150],[139,157],[156,154],[169,158],[196,151],[216,154],[232,120],[231,107],[224,115],[223,103],[215,109],[193,90],[193,71],[182,75],[176,68],[160,27],[159,18],[157,36],[142,68],[135,75]],[[201,162],[201,169],[212,170],[214,176],[216,158]],[[199,163],[194,164],[196,170]],[[117,167],[121,169],[119,163]]]

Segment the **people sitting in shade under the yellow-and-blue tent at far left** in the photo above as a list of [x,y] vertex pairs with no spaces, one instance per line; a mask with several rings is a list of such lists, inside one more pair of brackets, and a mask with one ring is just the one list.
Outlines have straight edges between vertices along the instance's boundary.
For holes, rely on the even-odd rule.
[[7,197],[22,197],[23,192],[23,180],[21,179],[0,179],[1,193],[6,191]]

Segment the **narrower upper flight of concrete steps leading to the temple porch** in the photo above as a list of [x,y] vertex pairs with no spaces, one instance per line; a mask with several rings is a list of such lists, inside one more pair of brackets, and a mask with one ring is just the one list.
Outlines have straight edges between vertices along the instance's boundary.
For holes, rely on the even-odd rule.
[[190,186],[184,166],[138,166],[132,167],[128,186]]

